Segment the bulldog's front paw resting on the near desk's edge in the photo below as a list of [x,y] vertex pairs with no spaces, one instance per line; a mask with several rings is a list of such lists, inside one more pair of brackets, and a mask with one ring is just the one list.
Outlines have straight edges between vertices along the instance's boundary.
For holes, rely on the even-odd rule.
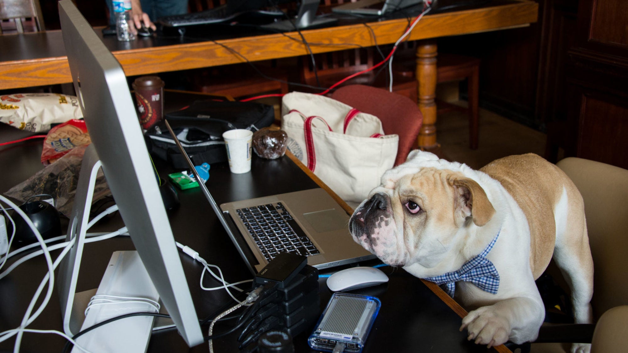
[[467,328],[468,340],[476,344],[485,344],[489,348],[504,344],[508,340],[511,326],[506,318],[497,315],[489,307],[482,307],[468,313],[462,319],[460,330]]

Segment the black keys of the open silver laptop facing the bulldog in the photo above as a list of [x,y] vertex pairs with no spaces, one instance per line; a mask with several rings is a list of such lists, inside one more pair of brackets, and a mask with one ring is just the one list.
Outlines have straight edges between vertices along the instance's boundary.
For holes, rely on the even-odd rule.
[[281,252],[320,254],[281,202],[238,209],[237,214],[268,261]]

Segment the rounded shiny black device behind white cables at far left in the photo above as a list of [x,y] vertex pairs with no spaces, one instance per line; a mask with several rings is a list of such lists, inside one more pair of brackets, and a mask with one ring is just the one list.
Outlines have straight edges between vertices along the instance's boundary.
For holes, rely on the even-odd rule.
[[[53,205],[38,200],[26,202],[19,206],[19,209],[23,210],[31,222],[33,222],[43,239],[50,239],[51,237],[61,235],[61,218],[59,217],[59,212]],[[13,222],[15,222],[14,241],[16,244],[26,245],[37,241],[35,233],[18,212],[13,212],[11,218],[13,218]]]

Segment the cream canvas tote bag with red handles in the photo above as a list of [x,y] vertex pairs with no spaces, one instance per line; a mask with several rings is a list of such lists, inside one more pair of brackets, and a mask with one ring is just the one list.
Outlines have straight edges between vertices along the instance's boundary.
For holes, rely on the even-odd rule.
[[281,129],[296,141],[300,160],[346,202],[365,200],[393,168],[399,136],[386,135],[376,116],[324,95],[283,96]]

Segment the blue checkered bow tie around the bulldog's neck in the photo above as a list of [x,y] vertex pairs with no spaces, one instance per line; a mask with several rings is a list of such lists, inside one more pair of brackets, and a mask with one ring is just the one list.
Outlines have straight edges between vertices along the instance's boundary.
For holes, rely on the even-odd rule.
[[497,273],[495,265],[485,257],[489,254],[490,249],[492,249],[495,245],[497,237],[499,237],[499,233],[481,254],[464,263],[458,271],[452,271],[441,274],[440,276],[427,277],[423,279],[434,282],[436,285],[442,285],[445,283],[447,288],[443,289],[445,289],[447,294],[452,298],[453,293],[456,290],[455,283],[457,281],[468,281],[483,291],[497,294],[497,288],[499,288],[499,273]]

